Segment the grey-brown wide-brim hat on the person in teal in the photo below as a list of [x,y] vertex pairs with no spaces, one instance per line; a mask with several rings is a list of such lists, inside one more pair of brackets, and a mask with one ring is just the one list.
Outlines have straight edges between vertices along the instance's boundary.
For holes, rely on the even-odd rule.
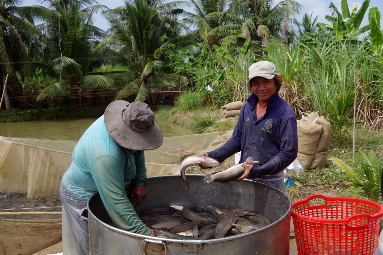
[[157,149],[164,141],[161,129],[154,123],[154,113],[141,102],[111,102],[105,109],[106,130],[118,145],[138,151]]

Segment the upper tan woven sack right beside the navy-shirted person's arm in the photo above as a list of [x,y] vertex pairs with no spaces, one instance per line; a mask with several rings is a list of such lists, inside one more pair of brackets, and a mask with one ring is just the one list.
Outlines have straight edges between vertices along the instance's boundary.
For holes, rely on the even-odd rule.
[[301,120],[296,122],[298,127],[298,152],[306,155],[314,154],[321,137],[322,125],[302,122]]

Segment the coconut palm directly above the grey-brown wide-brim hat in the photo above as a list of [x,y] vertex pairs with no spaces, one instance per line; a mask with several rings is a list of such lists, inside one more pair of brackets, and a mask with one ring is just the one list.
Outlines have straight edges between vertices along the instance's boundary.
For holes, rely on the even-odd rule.
[[[108,74],[116,84],[123,86],[116,99],[134,95],[134,102],[145,101],[151,90],[158,91],[166,85],[174,86],[177,80],[186,80],[183,76],[166,73],[166,63],[156,58],[156,54],[172,42],[175,45],[192,43],[178,36],[181,28],[176,14],[180,11],[173,7],[182,4],[181,1],[159,5],[150,0],[134,0],[104,12],[112,28],[102,44],[110,45],[115,62],[131,69]],[[165,38],[173,39],[166,41]]]

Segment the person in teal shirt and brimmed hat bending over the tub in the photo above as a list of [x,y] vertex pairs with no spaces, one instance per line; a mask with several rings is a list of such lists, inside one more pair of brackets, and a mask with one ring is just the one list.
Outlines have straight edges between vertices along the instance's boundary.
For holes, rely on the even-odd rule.
[[89,254],[86,204],[97,191],[113,223],[120,229],[155,236],[142,223],[130,203],[125,187],[134,183],[131,198],[138,204],[146,197],[144,150],[158,148],[163,141],[147,104],[112,102],[79,140],[72,164],[61,180],[63,205],[63,254]]

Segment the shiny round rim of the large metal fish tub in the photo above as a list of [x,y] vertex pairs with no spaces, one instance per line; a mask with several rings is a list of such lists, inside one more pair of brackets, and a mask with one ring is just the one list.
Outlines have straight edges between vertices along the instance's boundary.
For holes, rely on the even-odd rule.
[[[203,177],[205,175],[203,174],[188,174],[189,176],[200,176],[200,177]],[[168,178],[168,177],[174,177],[174,175],[159,175],[159,176],[152,176],[152,177],[147,177],[147,179],[154,179],[154,178],[159,178],[159,177],[163,177],[163,178]],[[241,181],[244,181],[244,182],[256,182],[254,180],[248,180],[248,179],[243,179]],[[265,186],[268,186],[269,188],[271,189],[275,189],[275,190],[278,190],[277,188],[273,187],[273,186],[270,186],[270,185],[267,185],[267,184],[264,184],[262,182],[256,182],[260,185],[265,185]],[[280,190],[278,190],[280,191]],[[94,195],[96,195],[98,192],[96,192],[95,194],[92,195],[92,197]],[[282,192],[283,193],[283,192]],[[178,240],[178,239],[168,239],[168,238],[161,238],[161,237],[152,237],[152,236],[145,236],[145,235],[141,235],[141,234],[136,234],[136,233],[133,233],[133,232],[129,232],[129,231],[126,231],[126,230],[123,230],[123,229],[119,229],[117,227],[113,227],[113,226],[110,226],[109,224],[106,224],[104,223],[103,221],[101,221],[100,219],[98,219],[93,213],[92,211],[89,210],[89,201],[90,199],[88,200],[87,202],[87,208],[88,208],[88,213],[91,214],[93,216],[93,218],[95,218],[95,220],[101,224],[102,226],[108,228],[108,229],[111,229],[113,231],[116,231],[116,232],[119,232],[119,233],[123,233],[123,234],[126,234],[128,236],[134,236],[134,237],[140,237],[142,239],[152,239],[152,240],[160,240],[160,241],[165,241],[165,242],[171,242],[171,243],[180,243],[180,244],[211,244],[211,243],[216,243],[216,242],[221,242],[221,241],[228,241],[228,240],[234,240],[234,239],[238,239],[238,238],[242,238],[242,237],[245,237],[245,236],[250,236],[250,235],[253,235],[255,233],[258,233],[258,232],[262,232],[264,231],[265,229],[268,229],[270,227],[273,227],[274,225],[278,224],[280,221],[282,221],[283,219],[286,218],[287,214],[290,213],[291,211],[291,199],[290,197],[288,197],[288,195],[286,193],[283,193],[283,195],[285,195],[286,198],[288,198],[288,201],[289,201],[289,209],[286,211],[285,214],[283,214],[283,216],[281,218],[279,218],[277,221],[271,223],[270,225],[266,226],[266,227],[263,227],[261,229],[258,229],[256,231],[252,231],[252,232],[249,232],[249,233],[246,233],[246,234],[241,234],[241,235],[238,235],[238,236],[230,236],[230,237],[224,237],[224,238],[219,238],[219,239],[210,239],[210,240],[186,240],[186,239],[183,239],[183,240]],[[91,198],[92,198],[91,197]],[[144,241],[144,240],[143,240]]]

